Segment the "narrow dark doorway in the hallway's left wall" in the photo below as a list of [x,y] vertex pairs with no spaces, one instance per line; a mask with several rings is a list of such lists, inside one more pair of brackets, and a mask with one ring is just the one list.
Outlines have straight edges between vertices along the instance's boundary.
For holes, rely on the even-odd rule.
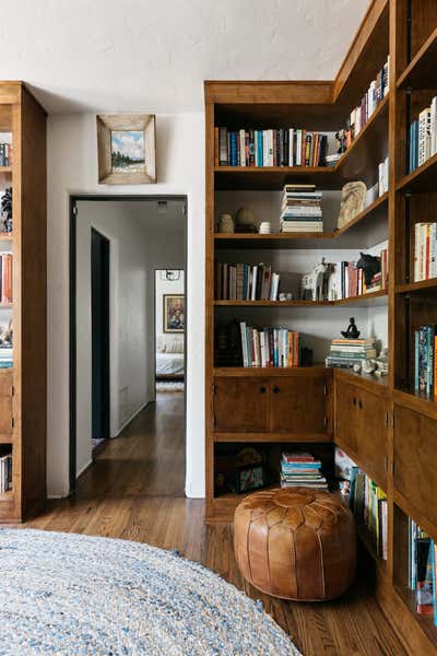
[[92,447],[109,440],[109,239],[91,230]]

